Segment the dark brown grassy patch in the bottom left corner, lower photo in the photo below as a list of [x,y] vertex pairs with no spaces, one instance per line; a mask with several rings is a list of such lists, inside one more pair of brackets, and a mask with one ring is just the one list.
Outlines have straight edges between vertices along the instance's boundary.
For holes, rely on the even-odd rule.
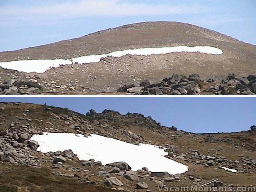
[[102,186],[53,177],[49,168],[0,163],[0,192],[113,192]]

